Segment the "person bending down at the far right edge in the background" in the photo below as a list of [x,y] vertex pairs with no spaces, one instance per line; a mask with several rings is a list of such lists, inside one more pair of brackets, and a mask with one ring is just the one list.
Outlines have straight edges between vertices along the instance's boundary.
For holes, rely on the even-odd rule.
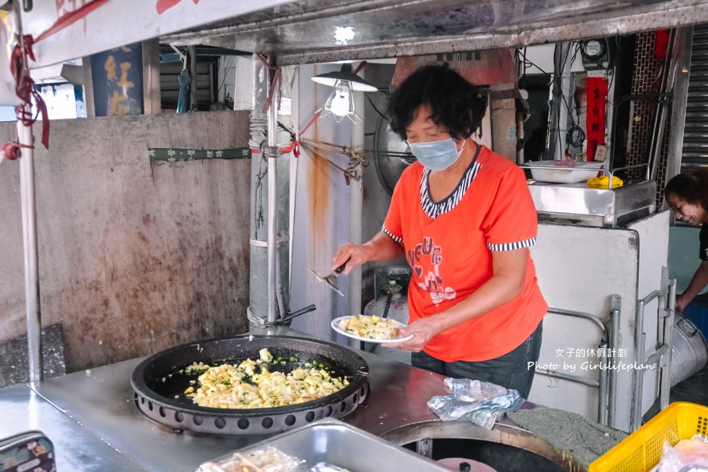
[[676,218],[692,226],[701,226],[698,235],[701,264],[685,291],[676,297],[675,310],[683,313],[691,300],[708,285],[708,169],[674,176],[664,187],[664,198]]

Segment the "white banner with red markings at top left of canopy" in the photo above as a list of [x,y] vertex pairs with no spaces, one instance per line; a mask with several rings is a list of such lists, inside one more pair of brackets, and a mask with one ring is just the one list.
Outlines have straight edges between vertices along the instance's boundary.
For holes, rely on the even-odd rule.
[[290,1],[42,0],[21,17],[35,40],[35,69]]

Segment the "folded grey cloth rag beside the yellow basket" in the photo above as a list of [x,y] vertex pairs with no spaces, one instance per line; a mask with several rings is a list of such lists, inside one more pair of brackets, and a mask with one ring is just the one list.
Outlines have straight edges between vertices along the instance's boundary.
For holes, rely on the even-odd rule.
[[520,427],[553,444],[556,449],[571,451],[586,466],[627,437],[625,432],[555,408],[536,407],[507,416]]

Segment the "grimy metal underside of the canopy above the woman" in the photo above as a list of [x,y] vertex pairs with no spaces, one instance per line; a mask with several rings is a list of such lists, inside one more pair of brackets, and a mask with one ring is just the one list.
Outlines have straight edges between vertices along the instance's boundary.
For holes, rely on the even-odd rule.
[[309,0],[166,35],[304,64],[523,47],[708,21],[708,2]]

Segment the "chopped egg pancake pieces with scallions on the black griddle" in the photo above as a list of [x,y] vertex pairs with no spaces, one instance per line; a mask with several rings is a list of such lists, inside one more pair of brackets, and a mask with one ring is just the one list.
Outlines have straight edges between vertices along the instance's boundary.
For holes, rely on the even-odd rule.
[[188,366],[187,373],[203,373],[198,378],[200,386],[196,390],[189,387],[185,393],[202,407],[271,408],[316,400],[349,385],[346,378],[332,377],[324,364],[316,362],[312,369],[298,367],[287,373],[271,372],[268,370],[271,364],[285,363],[280,359],[273,361],[268,349],[261,349],[260,354],[258,361],[246,359],[238,366],[212,367],[202,363]]

